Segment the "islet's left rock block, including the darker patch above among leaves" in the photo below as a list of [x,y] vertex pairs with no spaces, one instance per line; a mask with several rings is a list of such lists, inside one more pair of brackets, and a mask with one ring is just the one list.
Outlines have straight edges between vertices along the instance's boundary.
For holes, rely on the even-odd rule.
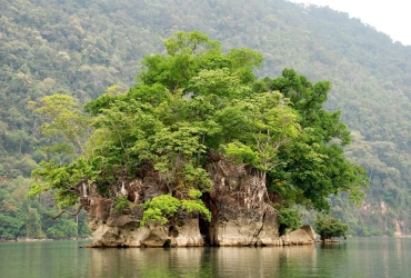
[[139,205],[166,193],[153,176],[147,176],[147,180],[122,180],[118,189],[116,195],[127,193],[128,199],[133,202],[121,212],[116,212],[112,199],[102,198],[96,190],[90,190],[88,197],[81,198],[93,236],[90,247],[203,246],[197,212],[181,210],[167,225],[140,225],[143,208]]

